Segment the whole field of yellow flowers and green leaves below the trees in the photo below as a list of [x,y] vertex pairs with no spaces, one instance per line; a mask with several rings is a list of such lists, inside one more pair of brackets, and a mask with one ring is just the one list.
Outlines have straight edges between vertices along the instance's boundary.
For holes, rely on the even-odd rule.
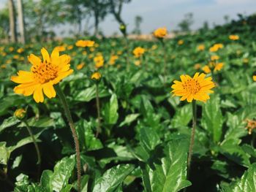
[[255,18],[166,33],[1,45],[0,191],[256,191]]

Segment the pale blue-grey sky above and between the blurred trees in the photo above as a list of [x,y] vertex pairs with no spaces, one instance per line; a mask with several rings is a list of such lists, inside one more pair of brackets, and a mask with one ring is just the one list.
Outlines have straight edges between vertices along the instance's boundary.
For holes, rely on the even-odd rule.
[[[91,0],[93,1],[93,0]],[[4,7],[7,0],[0,0],[0,9]],[[208,21],[210,26],[224,23],[224,16],[230,19],[237,19],[237,14],[250,15],[256,12],[256,0],[132,0],[129,4],[124,4],[122,18],[128,23],[128,31],[135,28],[135,16],[143,18],[141,31],[149,34],[159,27],[167,27],[168,31],[178,28],[178,23],[184,15],[192,12],[194,23],[192,29],[203,26]],[[93,18],[91,18],[91,22]],[[68,26],[56,28],[57,34],[60,31],[68,31]],[[118,31],[118,23],[113,15],[108,15],[99,24],[99,28],[106,35]]]

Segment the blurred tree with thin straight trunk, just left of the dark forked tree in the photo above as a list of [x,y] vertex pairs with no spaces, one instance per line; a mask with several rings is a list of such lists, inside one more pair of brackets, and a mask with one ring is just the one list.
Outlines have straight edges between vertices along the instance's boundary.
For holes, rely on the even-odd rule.
[[85,0],[84,6],[94,16],[94,36],[99,34],[99,22],[108,14],[108,0]]

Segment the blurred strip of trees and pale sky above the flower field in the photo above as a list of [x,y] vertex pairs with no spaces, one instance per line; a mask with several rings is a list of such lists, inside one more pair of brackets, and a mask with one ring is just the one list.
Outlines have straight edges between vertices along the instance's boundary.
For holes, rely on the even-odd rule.
[[[0,0],[1,42],[214,28],[253,15],[255,0]],[[25,35],[26,34],[26,35]],[[132,37],[132,35],[131,35]]]

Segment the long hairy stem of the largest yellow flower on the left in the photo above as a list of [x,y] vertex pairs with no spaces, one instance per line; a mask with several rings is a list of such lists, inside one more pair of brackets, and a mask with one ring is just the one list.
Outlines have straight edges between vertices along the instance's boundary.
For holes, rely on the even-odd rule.
[[64,108],[65,115],[67,117],[67,121],[69,122],[69,127],[72,131],[72,137],[75,141],[75,153],[76,153],[76,160],[77,160],[77,169],[78,169],[78,192],[80,192],[80,181],[81,181],[81,161],[80,161],[80,148],[79,148],[79,140],[78,140],[78,134],[75,131],[75,125],[71,117],[71,113],[69,110],[69,106],[67,104],[66,97],[64,96],[64,93],[61,91],[61,88],[59,84],[56,85],[56,91],[59,95],[59,98],[61,99],[61,103]]

